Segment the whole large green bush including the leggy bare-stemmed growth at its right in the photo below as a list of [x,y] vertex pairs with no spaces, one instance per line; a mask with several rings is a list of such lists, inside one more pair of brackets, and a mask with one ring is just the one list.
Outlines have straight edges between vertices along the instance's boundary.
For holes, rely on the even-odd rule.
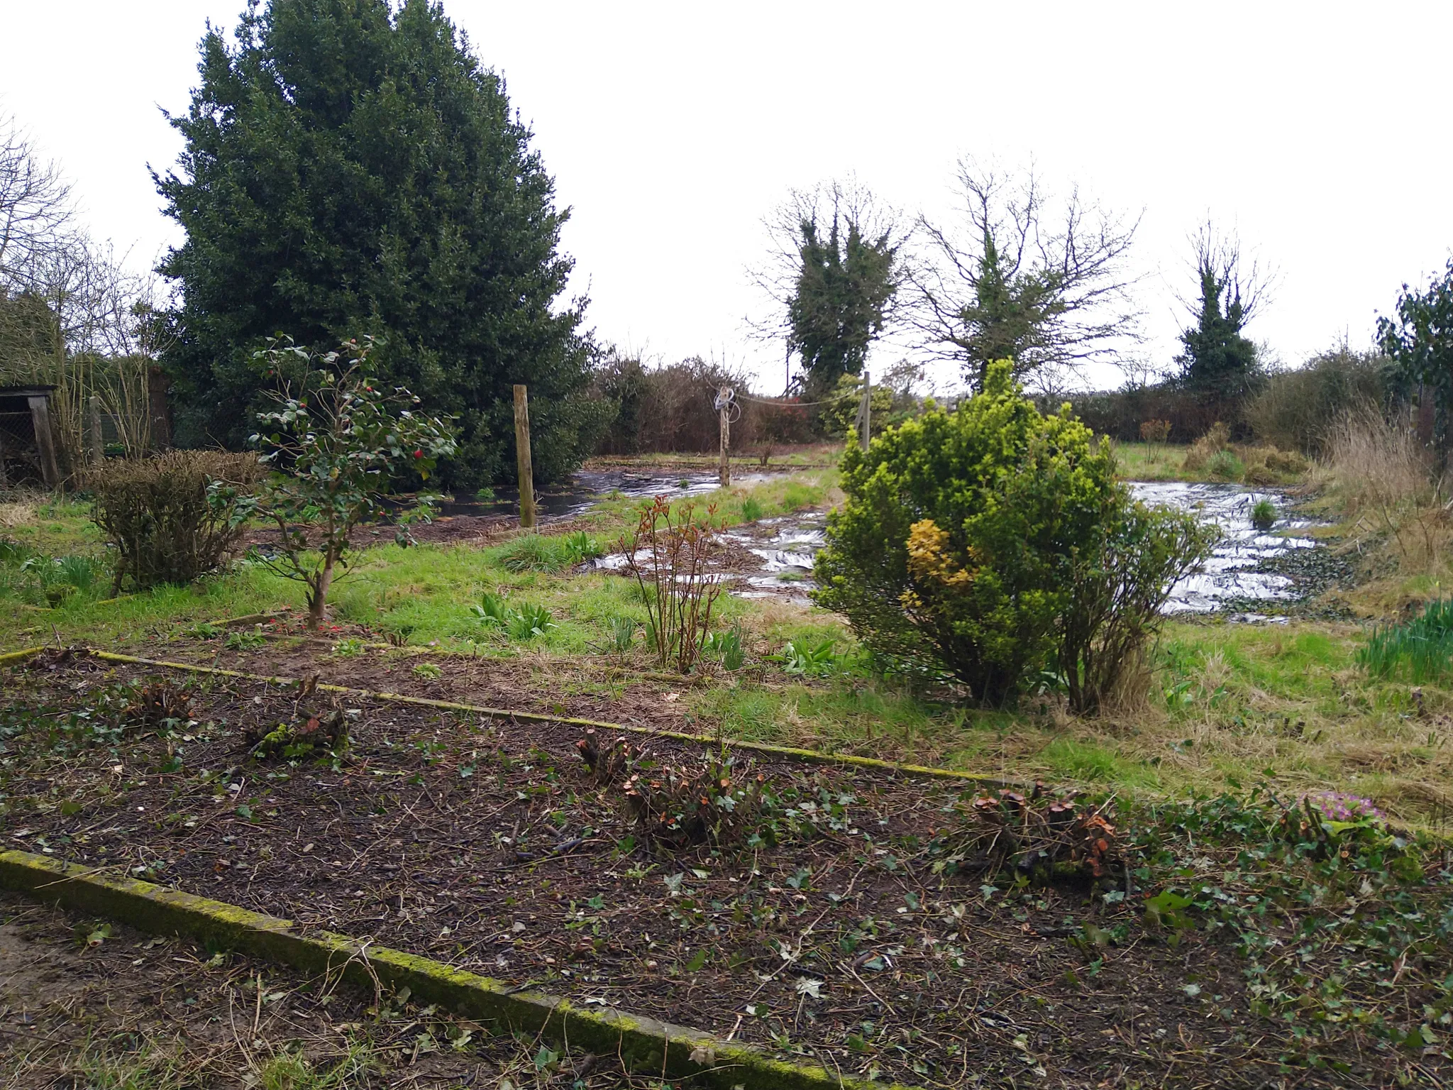
[[984,703],[1055,669],[1094,709],[1206,546],[1189,516],[1133,504],[1109,443],[1068,408],[1039,413],[1007,362],[958,411],[850,445],[843,491],[818,603],[875,653],[946,671]]

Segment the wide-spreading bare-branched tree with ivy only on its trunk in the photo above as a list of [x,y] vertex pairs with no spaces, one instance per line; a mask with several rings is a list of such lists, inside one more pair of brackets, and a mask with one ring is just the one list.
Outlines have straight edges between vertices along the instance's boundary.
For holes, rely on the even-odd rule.
[[918,221],[911,323],[920,347],[959,362],[979,388],[989,362],[1062,387],[1088,360],[1139,340],[1126,267],[1139,218],[1128,221],[1071,187],[1045,190],[1033,166],[1007,173],[959,161],[963,222]]

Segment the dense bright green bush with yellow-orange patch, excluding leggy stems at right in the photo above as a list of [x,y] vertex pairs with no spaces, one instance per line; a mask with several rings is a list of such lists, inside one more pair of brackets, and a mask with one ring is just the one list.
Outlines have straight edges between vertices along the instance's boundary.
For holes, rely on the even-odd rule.
[[956,413],[850,445],[843,491],[819,605],[875,651],[942,667],[985,702],[1048,660],[1064,567],[1116,494],[1109,451],[1068,414],[1042,416],[1007,360]]

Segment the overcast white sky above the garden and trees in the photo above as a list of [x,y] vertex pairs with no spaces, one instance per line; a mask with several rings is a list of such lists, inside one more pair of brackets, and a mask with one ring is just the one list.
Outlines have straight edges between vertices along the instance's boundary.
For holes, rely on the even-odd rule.
[[[147,164],[179,151],[208,17],[243,0],[0,0],[0,112],[147,263],[174,227]],[[856,171],[946,218],[965,153],[1036,160],[1144,209],[1149,350],[1175,352],[1186,238],[1209,214],[1280,270],[1248,333],[1286,362],[1369,343],[1453,247],[1441,3],[494,3],[446,0],[503,73],[572,208],[575,291],[604,340],[747,362],[745,269],[789,187]],[[881,356],[876,366],[892,362]],[[1114,375],[1101,382],[1113,385]]]

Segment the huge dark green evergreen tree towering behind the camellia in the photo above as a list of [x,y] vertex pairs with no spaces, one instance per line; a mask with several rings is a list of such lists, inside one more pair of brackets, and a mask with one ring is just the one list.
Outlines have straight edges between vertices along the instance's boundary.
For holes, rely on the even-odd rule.
[[157,179],[186,230],[180,339],[166,365],[183,442],[240,446],[289,331],[314,349],[360,331],[379,374],[459,421],[446,483],[514,471],[511,384],[530,388],[535,472],[590,452],[583,301],[558,308],[565,212],[503,80],[427,0],[270,0],[235,45],[209,31],[180,174]]

